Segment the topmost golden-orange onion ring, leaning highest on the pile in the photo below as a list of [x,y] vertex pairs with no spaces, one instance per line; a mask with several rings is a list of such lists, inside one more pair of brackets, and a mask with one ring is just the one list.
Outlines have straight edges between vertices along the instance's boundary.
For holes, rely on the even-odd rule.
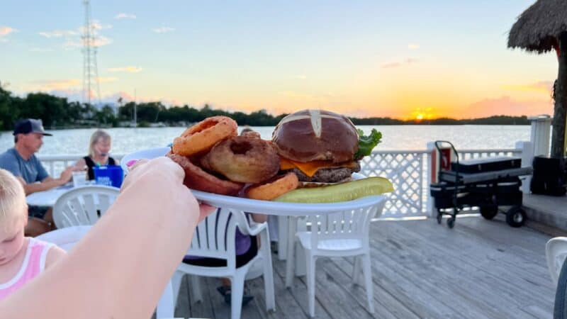
[[212,116],[191,126],[173,140],[174,154],[191,156],[210,150],[216,143],[237,135],[238,124],[227,116]]

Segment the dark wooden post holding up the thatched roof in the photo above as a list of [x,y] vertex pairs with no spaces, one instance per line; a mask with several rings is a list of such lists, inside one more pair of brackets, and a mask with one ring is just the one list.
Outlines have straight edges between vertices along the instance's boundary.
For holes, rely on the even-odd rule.
[[558,36],[559,56],[557,58],[559,71],[554,84],[554,121],[553,137],[551,138],[551,157],[561,159],[565,156],[565,125],[567,108],[567,32]]

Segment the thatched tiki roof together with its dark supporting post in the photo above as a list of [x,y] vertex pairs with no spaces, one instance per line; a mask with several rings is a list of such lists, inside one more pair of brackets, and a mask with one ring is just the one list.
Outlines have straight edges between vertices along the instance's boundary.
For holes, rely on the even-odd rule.
[[544,53],[555,49],[559,72],[554,85],[554,121],[551,156],[565,155],[567,108],[567,0],[538,0],[517,19],[508,35],[508,47]]

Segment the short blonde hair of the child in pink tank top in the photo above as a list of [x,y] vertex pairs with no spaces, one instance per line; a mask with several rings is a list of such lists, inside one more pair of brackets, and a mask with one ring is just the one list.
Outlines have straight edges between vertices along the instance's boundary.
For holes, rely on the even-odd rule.
[[10,228],[18,218],[28,213],[26,193],[16,177],[6,169],[0,169],[0,225],[4,230]]

